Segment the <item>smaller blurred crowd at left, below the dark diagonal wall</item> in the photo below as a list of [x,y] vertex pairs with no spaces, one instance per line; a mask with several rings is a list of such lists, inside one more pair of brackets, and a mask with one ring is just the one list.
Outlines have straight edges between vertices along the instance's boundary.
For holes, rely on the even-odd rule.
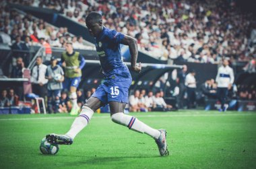
[[69,34],[67,28],[56,28],[30,14],[10,9],[5,1],[0,3],[0,43],[8,44],[13,50],[30,50],[30,46],[65,47],[73,42],[76,49],[92,49],[84,44],[82,36]]

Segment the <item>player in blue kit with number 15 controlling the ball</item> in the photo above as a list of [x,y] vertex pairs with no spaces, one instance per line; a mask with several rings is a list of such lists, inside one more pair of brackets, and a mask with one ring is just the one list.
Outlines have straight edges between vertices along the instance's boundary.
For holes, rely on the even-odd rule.
[[102,24],[102,15],[98,12],[91,12],[87,16],[86,26],[90,34],[95,37],[95,45],[100,57],[102,73],[105,75],[104,82],[98,86],[94,94],[84,104],[79,116],[75,119],[71,125],[71,129],[65,135],[49,134],[46,135],[46,139],[50,143],[66,145],[73,143],[73,139],[77,133],[88,125],[94,112],[101,106],[109,104],[110,117],[114,123],[124,125],[133,131],[150,135],[158,145],[160,156],[168,156],[166,131],[164,129],[153,129],[134,116],[123,113],[128,103],[131,74],[121,59],[119,44],[129,46],[131,70],[139,73],[141,71],[141,64],[136,64],[138,54],[137,41],[116,30],[110,30],[104,27]]

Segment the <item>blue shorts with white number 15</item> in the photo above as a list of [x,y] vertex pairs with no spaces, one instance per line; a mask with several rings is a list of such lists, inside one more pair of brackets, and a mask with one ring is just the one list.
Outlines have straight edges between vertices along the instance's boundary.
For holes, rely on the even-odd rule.
[[128,103],[128,92],[131,86],[131,79],[125,81],[105,81],[96,89],[92,97],[98,98],[104,104],[108,102]]

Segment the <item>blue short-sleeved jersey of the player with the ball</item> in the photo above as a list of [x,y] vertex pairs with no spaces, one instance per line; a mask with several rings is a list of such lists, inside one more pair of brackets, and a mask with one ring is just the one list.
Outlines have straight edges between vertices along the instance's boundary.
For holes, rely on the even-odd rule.
[[105,79],[115,81],[131,79],[129,69],[121,57],[120,43],[124,37],[124,34],[104,27],[102,33],[95,38],[95,46]]

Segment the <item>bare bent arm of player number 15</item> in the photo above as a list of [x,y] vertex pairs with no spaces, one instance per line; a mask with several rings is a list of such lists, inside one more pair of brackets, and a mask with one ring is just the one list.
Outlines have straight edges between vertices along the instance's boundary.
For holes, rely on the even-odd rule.
[[123,40],[121,40],[121,44],[129,46],[131,54],[131,70],[139,73],[141,71],[141,63],[139,63],[139,65],[136,64],[138,56],[137,40],[135,40],[135,38],[131,38],[131,36],[125,35]]

